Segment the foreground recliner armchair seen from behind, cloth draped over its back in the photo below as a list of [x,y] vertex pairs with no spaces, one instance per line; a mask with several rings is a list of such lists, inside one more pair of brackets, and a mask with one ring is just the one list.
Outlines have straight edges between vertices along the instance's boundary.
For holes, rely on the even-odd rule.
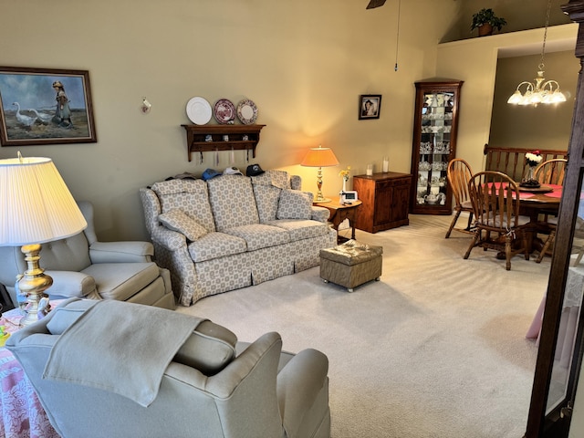
[[276,332],[244,344],[202,318],[71,298],[6,348],[63,438],[330,436],[327,357],[282,352]]

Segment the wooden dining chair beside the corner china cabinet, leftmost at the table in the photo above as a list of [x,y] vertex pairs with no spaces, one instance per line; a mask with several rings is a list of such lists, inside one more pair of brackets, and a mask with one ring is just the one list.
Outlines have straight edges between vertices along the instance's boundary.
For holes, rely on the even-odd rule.
[[[462,158],[454,158],[448,163],[448,169],[446,170],[446,178],[450,187],[453,190],[454,195],[454,218],[450,223],[450,227],[446,232],[444,238],[450,237],[453,230],[460,231],[463,233],[473,233],[472,223],[473,223],[473,204],[471,203],[471,198],[468,194],[468,182],[473,176],[473,171],[468,162],[465,162]],[[458,221],[458,217],[461,213],[468,213],[468,224],[466,228],[455,228],[454,225]]]

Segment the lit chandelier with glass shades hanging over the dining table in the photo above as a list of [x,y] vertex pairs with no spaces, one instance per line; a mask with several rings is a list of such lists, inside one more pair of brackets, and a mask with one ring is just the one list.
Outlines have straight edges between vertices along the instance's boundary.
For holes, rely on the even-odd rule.
[[[566,96],[559,89],[558,81],[544,78],[544,56],[546,54],[547,26],[549,25],[549,11],[551,10],[551,0],[547,2],[546,29],[544,31],[544,44],[541,47],[541,58],[537,66],[537,78],[533,82],[523,81],[517,85],[515,93],[507,100],[513,105],[533,105],[537,107],[540,103],[565,102]],[[526,86],[525,93],[521,93],[521,87]]]

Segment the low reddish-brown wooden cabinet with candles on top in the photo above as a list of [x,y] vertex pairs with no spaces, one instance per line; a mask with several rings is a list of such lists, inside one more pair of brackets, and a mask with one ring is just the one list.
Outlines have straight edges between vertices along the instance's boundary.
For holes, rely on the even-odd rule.
[[353,177],[353,190],[362,202],[357,228],[368,233],[410,224],[408,218],[412,175],[380,172]]

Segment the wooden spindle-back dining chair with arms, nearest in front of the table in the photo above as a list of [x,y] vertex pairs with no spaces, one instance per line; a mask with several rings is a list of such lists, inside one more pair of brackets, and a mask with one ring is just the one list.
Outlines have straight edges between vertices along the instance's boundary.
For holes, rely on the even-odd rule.
[[[528,216],[519,215],[519,187],[502,172],[485,171],[474,174],[468,182],[475,220],[474,237],[468,246],[467,259],[475,246],[505,253],[506,270],[511,269],[511,257],[523,253],[529,260],[525,225]],[[516,243],[519,245],[516,245]]]

